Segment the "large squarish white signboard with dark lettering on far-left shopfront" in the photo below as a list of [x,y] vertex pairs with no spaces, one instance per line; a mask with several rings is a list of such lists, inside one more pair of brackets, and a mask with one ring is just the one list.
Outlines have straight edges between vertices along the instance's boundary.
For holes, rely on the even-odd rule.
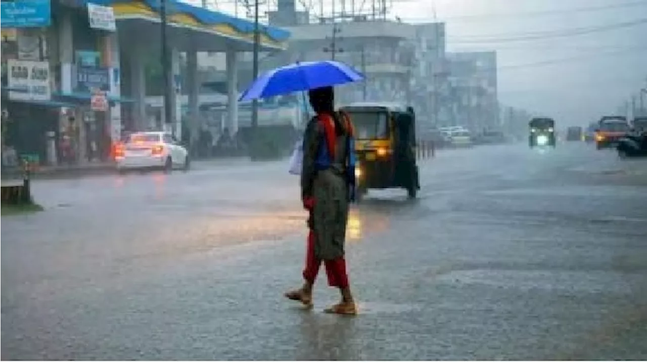
[[10,100],[46,101],[51,96],[49,62],[7,60]]

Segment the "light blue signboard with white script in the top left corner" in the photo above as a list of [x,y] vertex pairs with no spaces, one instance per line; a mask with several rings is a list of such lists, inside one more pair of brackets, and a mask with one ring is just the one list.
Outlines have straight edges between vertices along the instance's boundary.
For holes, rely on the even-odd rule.
[[0,2],[0,28],[49,27],[50,0],[14,0]]

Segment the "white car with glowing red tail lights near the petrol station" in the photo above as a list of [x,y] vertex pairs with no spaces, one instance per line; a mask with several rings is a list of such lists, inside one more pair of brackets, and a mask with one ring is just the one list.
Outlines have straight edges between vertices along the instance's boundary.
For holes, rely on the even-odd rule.
[[171,171],[188,170],[189,153],[170,133],[141,132],[131,134],[115,150],[117,170],[156,168]]

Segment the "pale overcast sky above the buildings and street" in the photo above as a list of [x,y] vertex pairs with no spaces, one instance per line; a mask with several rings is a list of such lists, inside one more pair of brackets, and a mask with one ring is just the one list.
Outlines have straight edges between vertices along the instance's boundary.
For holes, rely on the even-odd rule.
[[[228,1],[218,7],[234,12]],[[647,0],[393,0],[391,14],[433,21],[434,8],[448,50],[497,50],[504,104],[588,124],[647,86]]]

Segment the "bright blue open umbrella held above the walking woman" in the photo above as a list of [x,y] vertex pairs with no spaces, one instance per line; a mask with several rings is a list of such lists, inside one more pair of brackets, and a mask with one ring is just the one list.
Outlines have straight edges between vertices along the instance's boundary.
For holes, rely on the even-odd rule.
[[303,61],[273,69],[256,78],[241,101],[267,98],[309,89],[342,85],[364,79],[364,75],[338,61]]

